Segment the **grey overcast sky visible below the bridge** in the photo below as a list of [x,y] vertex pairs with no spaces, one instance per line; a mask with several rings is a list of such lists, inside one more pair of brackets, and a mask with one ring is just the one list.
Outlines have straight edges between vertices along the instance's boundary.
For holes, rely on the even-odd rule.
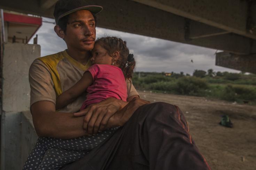
[[[54,22],[50,18],[43,18],[43,20]],[[38,34],[38,44],[41,45],[41,56],[57,53],[67,48],[65,42],[55,34],[53,28],[54,24],[43,22],[36,33]],[[216,49],[96,28],[96,37],[105,35],[117,36],[127,42],[127,47],[130,49],[130,53],[134,54],[137,62],[136,71],[173,71],[175,73],[183,71],[185,74],[193,74],[195,69],[207,71],[212,68],[214,71],[238,72],[233,69],[215,66]],[[193,63],[191,60],[193,60]]]

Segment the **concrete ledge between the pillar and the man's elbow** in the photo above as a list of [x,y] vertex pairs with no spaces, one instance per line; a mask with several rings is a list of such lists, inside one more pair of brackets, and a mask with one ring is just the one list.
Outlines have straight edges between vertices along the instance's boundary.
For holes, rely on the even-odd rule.
[[30,111],[24,111],[21,113],[21,168],[25,163],[28,155],[32,151],[34,145],[37,142],[37,133],[34,129],[32,115]]

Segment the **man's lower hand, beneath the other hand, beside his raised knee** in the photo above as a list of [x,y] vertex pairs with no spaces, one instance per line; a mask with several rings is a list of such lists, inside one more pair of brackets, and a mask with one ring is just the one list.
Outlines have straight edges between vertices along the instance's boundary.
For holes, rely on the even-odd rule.
[[[149,101],[139,98],[133,98],[123,109],[117,111],[108,121],[105,129],[115,126],[124,126],[124,124],[131,118],[133,113],[142,105],[150,103]],[[100,129],[104,130],[104,129]]]

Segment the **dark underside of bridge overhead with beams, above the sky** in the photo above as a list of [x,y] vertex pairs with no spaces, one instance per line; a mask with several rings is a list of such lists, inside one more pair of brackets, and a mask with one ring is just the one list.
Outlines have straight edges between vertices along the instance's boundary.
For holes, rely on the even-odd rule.
[[[256,57],[256,1],[88,0],[103,6],[98,26]],[[53,18],[56,0],[2,0],[0,8]],[[218,65],[229,67],[226,62]],[[244,69],[247,67],[246,69]],[[254,70],[254,69],[249,69]],[[251,73],[256,73],[252,72]]]

